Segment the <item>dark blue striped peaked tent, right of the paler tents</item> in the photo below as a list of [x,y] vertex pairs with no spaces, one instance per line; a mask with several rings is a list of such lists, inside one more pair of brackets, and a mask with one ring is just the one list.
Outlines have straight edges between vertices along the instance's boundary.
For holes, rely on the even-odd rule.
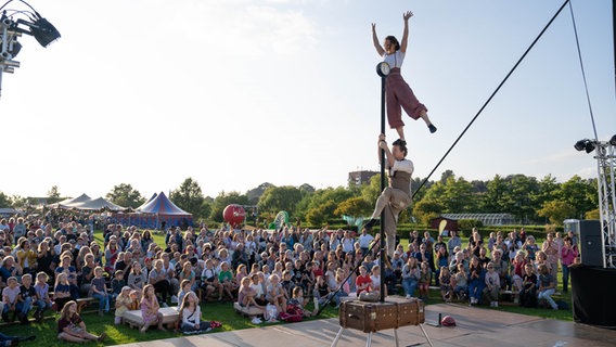
[[125,226],[149,229],[192,226],[192,214],[176,206],[163,192],[154,194],[134,214],[116,214],[114,218]]

